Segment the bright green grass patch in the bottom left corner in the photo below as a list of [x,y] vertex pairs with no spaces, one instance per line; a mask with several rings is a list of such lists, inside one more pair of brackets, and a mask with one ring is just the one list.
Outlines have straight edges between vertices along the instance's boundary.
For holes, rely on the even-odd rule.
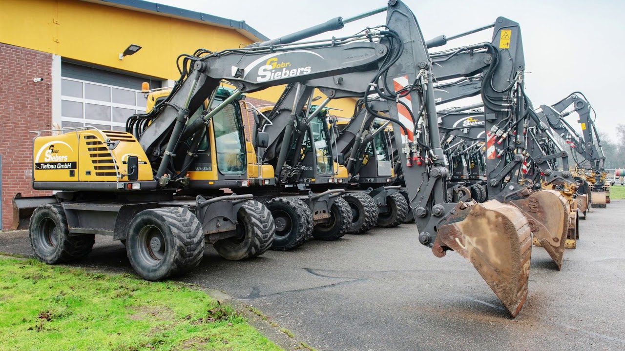
[[281,350],[227,305],[174,282],[0,259],[3,350]]

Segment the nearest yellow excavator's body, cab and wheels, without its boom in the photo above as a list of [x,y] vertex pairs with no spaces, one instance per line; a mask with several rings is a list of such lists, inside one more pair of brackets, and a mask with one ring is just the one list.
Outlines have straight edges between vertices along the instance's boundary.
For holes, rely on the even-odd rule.
[[[141,277],[160,280],[196,267],[205,236],[229,260],[271,247],[275,225],[267,207],[252,195],[221,190],[275,184],[271,166],[246,161],[239,104],[226,89],[211,96],[212,104],[225,107],[193,136],[181,138],[167,173],[160,182],[154,178],[159,160],[150,161],[136,136],[146,141],[142,134],[152,122],[176,110],[170,95],[171,89],[151,92],[148,113],[131,117],[129,132],[89,126],[37,132],[33,187],[63,190],[14,199],[14,216],[21,219],[16,227],[29,225],[37,258],[49,264],[78,259],[91,251],[94,234],[112,235],[126,245]],[[192,123],[209,111],[202,105],[185,120]],[[64,134],[43,135],[49,132]]]

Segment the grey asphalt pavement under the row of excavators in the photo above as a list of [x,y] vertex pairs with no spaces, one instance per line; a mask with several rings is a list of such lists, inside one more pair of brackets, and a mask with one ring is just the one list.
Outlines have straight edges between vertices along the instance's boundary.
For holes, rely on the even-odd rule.
[[[419,244],[414,224],[245,262],[207,247],[181,280],[244,300],[319,350],[625,350],[624,214],[625,200],[613,200],[580,220],[561,271],[534,247],[516,319],[469,262]],[[0,252],[32,255],[26,232],[0,234]],[[108,237],[73,265],[133,272]]]

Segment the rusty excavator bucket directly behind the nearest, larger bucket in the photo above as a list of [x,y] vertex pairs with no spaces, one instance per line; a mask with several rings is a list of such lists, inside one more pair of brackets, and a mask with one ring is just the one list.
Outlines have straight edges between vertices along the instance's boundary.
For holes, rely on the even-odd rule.
[[562,269],[562,255],[571,219],[571,206],[566,197],[556,190],[539,190],[509,204],[526,215],[539,246],[547,250],[557,269]]

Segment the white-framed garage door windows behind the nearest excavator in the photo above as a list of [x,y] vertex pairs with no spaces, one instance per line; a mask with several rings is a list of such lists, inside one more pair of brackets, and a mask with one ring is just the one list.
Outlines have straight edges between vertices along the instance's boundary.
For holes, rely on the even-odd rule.
[[138,90],[63,77],[61,127],[126,131],[126,119],[145,113],[147,102]]

